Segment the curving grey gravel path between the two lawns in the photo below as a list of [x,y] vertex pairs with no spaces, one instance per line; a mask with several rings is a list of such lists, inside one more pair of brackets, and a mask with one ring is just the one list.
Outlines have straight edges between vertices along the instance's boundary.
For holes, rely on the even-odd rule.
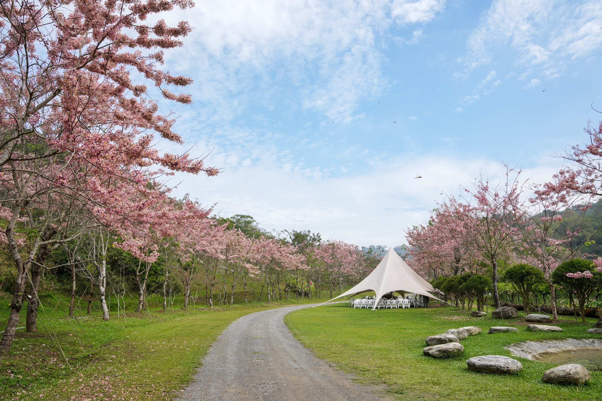
[[[217,338],[182,399],[383,400],[382,389],[358,385],[297,341],[282,318],[311,305],[247,314]],[[385,399],[389,399],[386,397]]]

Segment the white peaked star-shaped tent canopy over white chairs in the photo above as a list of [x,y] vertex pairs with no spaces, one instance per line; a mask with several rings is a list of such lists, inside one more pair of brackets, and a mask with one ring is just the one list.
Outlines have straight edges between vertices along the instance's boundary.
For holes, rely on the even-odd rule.
[[[393,246],[391,246],[385,257],[383,257],[378,266],[376,266],[376,269],[374,269],[368,277],[364,278],[361,283],[320,305],[324,305],[327,302],[334,301],[343,296],[353,296],[369,291],[376,292],[376,301],[389,292],[417,293],[442,301],[429,293],[429,291],[435,291],[433,286],[431,286],[428,281],[424,280],[424,278],[420,277],[417,272],[413,271],[406,262],[403,262],[403,259],[399,257],[397,252],[393,250]],[[376,302],[374,302],[372,310],[376,310]]]

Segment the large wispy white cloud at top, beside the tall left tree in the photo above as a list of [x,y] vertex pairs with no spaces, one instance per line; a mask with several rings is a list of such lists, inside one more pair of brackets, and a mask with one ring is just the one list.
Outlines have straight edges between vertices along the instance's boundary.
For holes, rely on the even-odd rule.
[[[383,36],[395,21],[427,22],[444,1],[223,0],[170,13],[193,32],[170,51],[172,72],[194,79],[197,120],[230,120],[249,106],[285,103],[351,121],[361,100],[386,88]],[[413,33],[411,43],[421,37]],[[194,49],[194,51],[191,51]],[[261,94],[260,96],[257,96]]]

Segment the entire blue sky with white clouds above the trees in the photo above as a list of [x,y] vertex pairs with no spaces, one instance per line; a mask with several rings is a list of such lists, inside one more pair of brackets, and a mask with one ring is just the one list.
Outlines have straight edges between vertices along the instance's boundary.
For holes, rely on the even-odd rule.
[[194,103],[161,102],[186,145],[159,147],[223,170],[175,195],[267,230],[398,245],[478,174],[545,180],[602,119],[599,0],[198,0],[169,19],[194,28],[166,62]]

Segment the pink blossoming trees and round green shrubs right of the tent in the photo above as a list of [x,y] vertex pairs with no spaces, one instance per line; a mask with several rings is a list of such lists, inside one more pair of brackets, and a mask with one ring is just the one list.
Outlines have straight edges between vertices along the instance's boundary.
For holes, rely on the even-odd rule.
[[[506,166],[497,183],[476,177],[461,194],[446,195],[429,221],[406,230],[409,265],[460,302],[473,299],[470,294],[485,289],[491,280],[490,292],[499,308],[500,279],[514,283],[527,310],[529,294],[536,293],[517,277],[537,271],[537,280],[548,287],[553,318],[557,319],[560,291],[585,319],[586,304],[602,292],[602,258],[596,257],[595,244],[602,224],[595,219],[599,212],[594,207],[602,196],[602,122],[597,127],[588,123],[585,131],[589,143],[560,153],[565,164],[547,182],[535,182],[522,170]],[[482,285],[476,286],[470,276],[479,277]],[[533,286],[539,284],[535,281]],[[588,291],[583,293],[583,288]]]

